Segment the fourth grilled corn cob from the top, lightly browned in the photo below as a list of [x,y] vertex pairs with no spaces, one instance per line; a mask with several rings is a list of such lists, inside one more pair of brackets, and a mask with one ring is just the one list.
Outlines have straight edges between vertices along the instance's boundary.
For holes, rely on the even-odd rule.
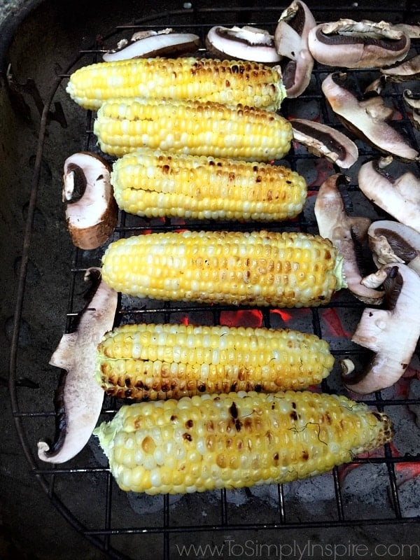
[[342,257],[302,232],[167,232],[119,239],[102,258],[118,292],[157,300],[309,307],[342,288]]

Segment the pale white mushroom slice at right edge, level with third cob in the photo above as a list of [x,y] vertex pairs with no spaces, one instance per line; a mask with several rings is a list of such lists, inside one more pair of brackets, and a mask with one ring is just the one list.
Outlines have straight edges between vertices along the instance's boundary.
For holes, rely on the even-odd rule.
[[361,165],[358,186],[372,203],[420,232],[420,180],[412,172],[394,179],[385,169],[391,162],[388,157]]

